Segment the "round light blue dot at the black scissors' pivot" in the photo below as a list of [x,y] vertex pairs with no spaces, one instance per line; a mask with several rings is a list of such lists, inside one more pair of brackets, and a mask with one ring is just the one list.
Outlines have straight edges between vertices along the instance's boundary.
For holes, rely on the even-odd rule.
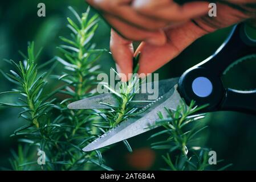
[[208,97],[213,92],[213,84],[206,77],[197,77],[192,82],[192,90],[198,97]]

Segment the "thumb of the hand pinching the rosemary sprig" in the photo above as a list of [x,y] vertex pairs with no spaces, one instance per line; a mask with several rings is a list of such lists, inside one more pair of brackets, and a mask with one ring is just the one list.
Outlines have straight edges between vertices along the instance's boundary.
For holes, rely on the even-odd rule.
[[168,42],[163,46],[153,46],[141,43],[135,55],[140,53],[140,67],[138,73],[152,73],[178,56],[186,47],[206,32],[193,22],[188,22],[181,27],[165,30]]

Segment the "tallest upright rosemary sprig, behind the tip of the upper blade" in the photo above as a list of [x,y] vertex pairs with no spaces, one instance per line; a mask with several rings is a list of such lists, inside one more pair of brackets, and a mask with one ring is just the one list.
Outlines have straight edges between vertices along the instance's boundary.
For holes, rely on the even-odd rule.
[[[65,154],[63,160],[68,159],[70,164],[64,169],[81,169],[80,167],[83,167],[84,163],[94,163],[105,169],[110,169],[101,165],[103,159],[99,150],[93,152],[81,150],[99,135],[99,130],[93,123],[100,118],[95,117],[92,111],[67,109],[70,102],[92,96],[93,89],[97,84],[96,75],[99,74],[100,67],[95,65],[95,61],[105,52],[102,49],[95,49],[95,44],[91,43],[97,28],[98,16],[94,15],[90,18],[90,9],[88,8],[86,13],[80,17],[72,7],[68,8],[74,13],[78,24],[67,18],[68,28],[72,31],[71,39],[60,37],[66,44],[58,47],[63,53],[63,57],[56,57],[56,60],[64,66],[65,71],[60,76],[55,75],[54,78],[63,82],[63,86],[55,92],[68,97],[56,106],[60,111],[57,118],[65,121],[66,124],[64,126],[66,130],[63,131],[59,139],[73,147],[67,148],[66,145],[60,145],[58,153],[62,151]],[[87,165],[84,169],[92,168]]]

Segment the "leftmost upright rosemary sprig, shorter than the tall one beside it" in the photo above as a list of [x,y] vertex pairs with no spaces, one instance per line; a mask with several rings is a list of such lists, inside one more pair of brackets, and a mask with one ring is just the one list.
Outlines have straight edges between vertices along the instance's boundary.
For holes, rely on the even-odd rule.
[[[37,57],[38,55],[35,55],[34,53],[34,42],[32,42],[29,44],[27,56],[24,57],[24,61],[19,61],[17,64],[13,60],[6,60],[13,65],[15,71],[11,70],[11,74],[7,73],[4,76],[9,81],[17,84],[18,88],[1,94],[13,93],[19,94],[21,97],[19,98],[18,104],[2,102],[0,104],[7,107],[21,108],[22,111],[19,113],[19,117],[22,117],[29,122],[26,126],[15,130],[14,135],[31,134],[26,132],[22,133],[22,131],[30,129],[32,131],[43,130],[43,128],[46,127],[45,125],[48,124],[47,120],[51,113],[53,106],[52,102],[54,102],[54,100],[43,102],[42,92],[46,85],[45,77],[47,76],[47,72],[44,72],[41,75],[38,74],[38,68],[35,64]],[[44,135],[42,130],[39,133],[40,137],[43,137]]]

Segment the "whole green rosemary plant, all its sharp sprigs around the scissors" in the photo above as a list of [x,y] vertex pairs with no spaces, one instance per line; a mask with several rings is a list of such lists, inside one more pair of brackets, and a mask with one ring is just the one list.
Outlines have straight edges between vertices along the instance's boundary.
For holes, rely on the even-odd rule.
[[[56,56],[42,65],[37,65],[40,51],[35,54],[34,43],[30,43],[27,56],[22,53],[24,61],[7,61],[13,65],[14,70],[3,75],[16,84],[17,88],[0,94],[18,94],[19,99],[15,104],[0,102],[0,105],[21,109],[19,117],[25,119],[25,124],[12,135],[22,142],[18,147],[18,154],[12,152],[14,159],[10,162],[15,170],[111,170],[103,164],[101,152],[105,149],[83,152],[82,148],[129,117],[145,111],[136,108],[133,101],[141,84],[136,75],[128,82],[122,82],[119,90],[104,84],[119,101],[117,106],[102,103],[111,109],[67,109],[71,102],[94,95],[94,89],[99,84],[96,75],[100,73],[96,61],[105,52],[104,49],[95,49],[95,44],[91,43],[97,28],[97,15],[90,18],[90,9],[87,9],[86,13],[79,16],[74,9],[69,9],[76,17],[76,21],[67,19],[68,28],[72,33],[70,38],[60,37],[64,42],[58,47],[62,56]],[[139,57],[135,60],[137,59]],[[41,73],[51,63],[54,64],[50,70]],[[47,79],[57,63],[64,67],[64,71],[51,77],[56,79],[55,84],[60,86],[47,93]],[[135,73],[138,66],[134,70]],[[64,100],[59,98],[60,94],[65,96]],[[163,158],[169,169],[202,170],[208,166],[209,150],[194,145],[194,137],[206,127],[195,124],[204,118],[204,114],[195,114],[200,109],[202,107],[194,107],[192,102],[188,108],[184,103],[175,111],[166,108],[167,118],[159,113],[160,120],[157,121],[157,125],[164,126],[165,130],[152,135],[151,138],[162,134],[168,134],[169,137],[153,143],[152,148],[168,150],[168,154]],[[124,140],[124,144],[132,152],[127,140]],[[38,151],[46,154],[45,164],[38,165]],[[173,156],[176,156],[175,160]]]

